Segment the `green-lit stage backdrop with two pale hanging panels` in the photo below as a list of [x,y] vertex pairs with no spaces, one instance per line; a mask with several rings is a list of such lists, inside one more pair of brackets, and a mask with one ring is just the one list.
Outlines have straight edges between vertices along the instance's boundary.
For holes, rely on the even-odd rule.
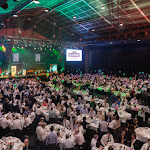
[[60,71],[64,68],[63,51],[57,48],[34,49],[34,47],[6,47],[6,52],[0,51],[0,67],[3,71],[11,71],[11,66],[17,67],[17,72],[28,70],[50,70],[50,64],[57,64]]

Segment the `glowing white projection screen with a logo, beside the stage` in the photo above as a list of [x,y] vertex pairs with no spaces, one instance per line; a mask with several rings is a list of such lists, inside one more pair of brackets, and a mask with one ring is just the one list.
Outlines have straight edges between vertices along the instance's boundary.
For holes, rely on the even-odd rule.
[[82,61],[82,50],[66,49],[66,61]]

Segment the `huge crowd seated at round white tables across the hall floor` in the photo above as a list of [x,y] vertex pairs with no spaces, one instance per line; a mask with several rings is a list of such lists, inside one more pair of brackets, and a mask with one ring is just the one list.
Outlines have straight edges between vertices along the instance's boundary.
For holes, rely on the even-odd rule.
[[149,104],[149,79],[98,74],[51,75],[48,82],[5,79],[0,81],[0,138],[11,133],[24,141],[24,150],[115,150],[120,145],[150,150],[150,132],[143,140],[137,133],[150,128]]

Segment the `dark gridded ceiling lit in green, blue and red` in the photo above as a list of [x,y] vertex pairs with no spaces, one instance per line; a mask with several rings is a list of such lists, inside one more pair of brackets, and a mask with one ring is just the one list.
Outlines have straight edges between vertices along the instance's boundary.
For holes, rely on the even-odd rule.
[[55,35],[86,42],[147,39],[150,34],[150,0],[4,0],[0,6],[5,2],[1,29],[31,29],[48,39]]

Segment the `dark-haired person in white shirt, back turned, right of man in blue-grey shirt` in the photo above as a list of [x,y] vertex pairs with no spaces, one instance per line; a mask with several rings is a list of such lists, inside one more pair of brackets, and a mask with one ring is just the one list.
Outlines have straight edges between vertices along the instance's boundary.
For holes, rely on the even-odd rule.
[[64,149],[71,149],[74,147],[75,143],[69,137],[70,137],[69,134],[66,134],[66,139],[63,142],[63,148]]

